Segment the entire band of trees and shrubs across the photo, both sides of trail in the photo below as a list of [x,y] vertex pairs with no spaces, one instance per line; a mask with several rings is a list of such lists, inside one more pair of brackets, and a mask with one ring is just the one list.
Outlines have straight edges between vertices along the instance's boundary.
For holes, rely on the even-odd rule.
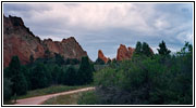
[[56,54],[38,59],[30,56],[30,64],[24,66],[17,56],[13,56],[3,70],[3,99],[50,85],[85,85],[94,81],[96,91],[84,93],[77,104],[193,104],[192,44],[186,42],[173,54],[163,41],[157,49],[158,54],[154,54],[146,42],[137,42],[135,48],[132,59],[107,64],[101,59],[93,64],[88,57],[81,62],[64,60]]

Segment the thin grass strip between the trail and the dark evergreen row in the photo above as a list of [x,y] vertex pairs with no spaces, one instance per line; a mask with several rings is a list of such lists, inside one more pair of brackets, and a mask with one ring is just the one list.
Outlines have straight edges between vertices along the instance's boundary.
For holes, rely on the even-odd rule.
[[[28,91],[26,95],[17,96],[17,99],[34,97],[34,96],[41,96],[41,95],[53,94],[53,93],[60,93],[60,92],[66,92],[66,91],[83,89],[83,87],[87,87],[87,86],[90,86],[90,85],[82,85],[82,86],[52,85],[52,86],[49,86],[46,89]],[[12,99],[13,99],[13,97],[12,97]]]

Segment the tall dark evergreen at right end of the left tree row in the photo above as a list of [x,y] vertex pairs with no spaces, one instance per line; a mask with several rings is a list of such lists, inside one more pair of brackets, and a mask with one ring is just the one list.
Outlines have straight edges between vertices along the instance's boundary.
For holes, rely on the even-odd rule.
[[78,70],[78,84],[87,84],[93,81],[93,65],[88,57],[82,57],[82,63]]

